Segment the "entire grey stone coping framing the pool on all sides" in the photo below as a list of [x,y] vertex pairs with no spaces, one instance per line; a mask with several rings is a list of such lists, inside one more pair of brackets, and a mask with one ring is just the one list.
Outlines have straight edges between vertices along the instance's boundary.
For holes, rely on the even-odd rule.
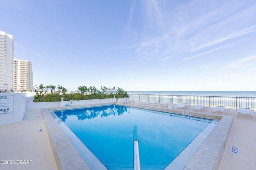
[[[117,102],[112,102],[90,105],[90,107],[107,106],[113,104],[118,105]],[[184,112],[181,110],[160,107],[148,108],[148,106],[140,106],[134,104],[128,104],[128,106],[164,111],[168,113],[176,113],[181,115],[183,115]],[[52,110],[74,109],[82,107],[87,106],[80,105],[41,109],[42,117],[46,125],[48,138],[52,147],[52,152],[56,161],[56,166],[59,170],[90,170],[86,162],[82,159],[78,151],[75,149],[74,145],[70,142],[68,137],[62,131],[62,129],[50,113],[50,111]],[[183,170],[218,170],[234,122],[233,117],[226,115],[210,115],[207,113],[196,112],[190,112],[190,114],[192,116],[210,119],[220,118],[220,121],[210,133],[210,135],[206,138],[206,140],[202,143],[199,149],[195,152],[195,154],[192,156],[192,158],[189,160]]]

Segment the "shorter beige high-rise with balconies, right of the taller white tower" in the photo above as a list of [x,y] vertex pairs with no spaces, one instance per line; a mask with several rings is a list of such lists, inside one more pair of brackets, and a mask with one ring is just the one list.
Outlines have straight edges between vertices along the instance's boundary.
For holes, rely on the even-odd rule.
[[14,59],[14,92],[33,90],[33,71],[30,61]]

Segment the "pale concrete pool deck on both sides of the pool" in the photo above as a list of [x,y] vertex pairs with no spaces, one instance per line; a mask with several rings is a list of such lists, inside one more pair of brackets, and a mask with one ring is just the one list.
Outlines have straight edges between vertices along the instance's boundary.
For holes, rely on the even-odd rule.
[[[167,108],[166,105],[158,107]],[[211,114],[211,108],[206,107],[202,113]],[[250,115],[238,115],[236,119],[235,113],[235,110],[229,109],[226,113],[234,117],[234,123],[219,170],[255,169],[256,121],[253,121]],[[238,153],[231,152],[232,147],[237,147]],[[2,160],[6,160],[6,163],[14,163],[0,164],[1,170],[57,170],[40,109],[26,110],[24,119],[20,123],[0,125],[0,160],[1,163]]]

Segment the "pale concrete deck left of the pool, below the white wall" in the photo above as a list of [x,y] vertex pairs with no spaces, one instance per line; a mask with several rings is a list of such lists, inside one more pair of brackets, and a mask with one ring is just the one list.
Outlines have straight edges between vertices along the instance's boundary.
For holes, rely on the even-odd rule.
[[20,123],[0,125],[0,160],[6,160],[1,170],[57,170],[40,109],[26,110]]

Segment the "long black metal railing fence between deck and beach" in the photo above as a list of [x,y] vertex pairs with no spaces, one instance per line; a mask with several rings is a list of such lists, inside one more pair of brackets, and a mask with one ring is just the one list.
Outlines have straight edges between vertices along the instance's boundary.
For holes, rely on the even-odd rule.
[[250,97],[223,97],[223,96],[184,96],[184,95],[163,95],[163,94],[132,94],[135,101],[151,102],[159,101],[160,103],[170,102],[174,104],[188,103],[196,106],[204,104],[206,107],[225,106],[227,109],[239,109],[240,107],[250,108],[256,111],[256,98]]

